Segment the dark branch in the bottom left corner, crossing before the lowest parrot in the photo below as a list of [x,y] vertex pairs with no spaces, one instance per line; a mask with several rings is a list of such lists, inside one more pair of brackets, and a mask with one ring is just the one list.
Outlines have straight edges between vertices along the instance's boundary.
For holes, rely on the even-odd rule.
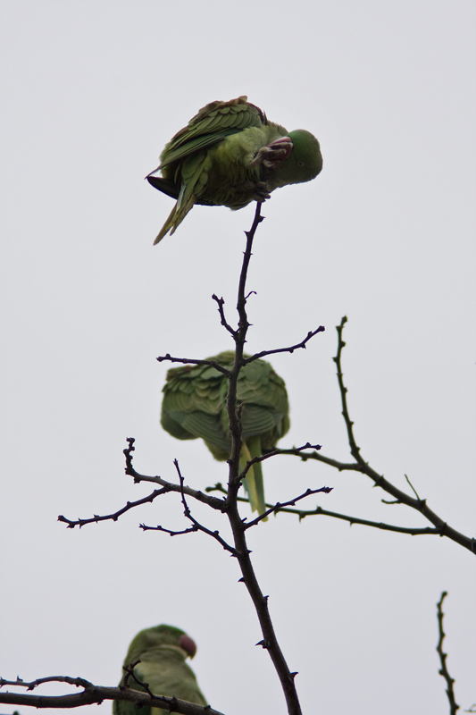
[[43,683],[68,683],[71,686],[82,687],[80,693],[66,695],[36,695],[24,693],[0,693],[0,703],[10,705],[26,705],[33,708],[79,708],[83,705],[100,704],[104,700],[121,700],[133,702],[138,707],[163,708],[163,710],[179,712],[181,715],[222,715],[221,712],[213,710],[209,705],[196,705],[193,702],[178,700],[175,697],[165,697],[164,695],[154,695],[133,690],[129,687],[105,687],[95,686],[81,677],[43,677],[31,683],[25,683],[21,679],[16,681],[4,680],[0,678],[1,686],[20,686],[33,690]]

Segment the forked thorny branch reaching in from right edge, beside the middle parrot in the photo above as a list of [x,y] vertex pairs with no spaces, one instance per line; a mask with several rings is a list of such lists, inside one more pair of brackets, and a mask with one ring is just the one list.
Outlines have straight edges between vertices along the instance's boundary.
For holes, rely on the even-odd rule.
[[[338,387],[340,390],[340,397],[342,401],[342,416],[344,417],[344,421],[346,423],[347,427],[347,438],[348,438],[348,443],[350,447],[350,453],[354,457],[355,461],[346,463],[346,462],[340,462],[338,459],[333,459],[330,457],[325,457],[323,454],[318,453],[317,451],[313,451],[310,453],[303,453],[300,450],[276,450],[277,453],[279,454],[289,454],[289,455],[295,455],[297,457],[300,457],[303,461],[306,461],[307,459],[315,459],[316,461],[322,462],[323,464],[327,464],[330,467],[335,467],[338,469],[339,472],[343,471],[355,471],[355,472],[361,472],[363,475],[369,476],[373,483],[374,486],[378,486],[381,489],[383,489],[385,492],[388,492],[388,494],[391,494],[391,496],[394,498],[395,501],[384,501],[384,503],[392,503],[392,504],[405,504],[407,507],[410,507],[411,509],[415,509],[416,511],[419,511],[423,517],[428,519],[433,526],[435,526],[434,530],[431,531],[414,531],[412,530],[411,532],[408,530],[400,529],[400,528],[393,528],[390,529],[391,531],[399,531],[402,534],[410,534],[410,533],[424,533],[424,534],[439,534],[440,536],[447,536],[448,539],[451,539],[455,543],[459,543],[461,546],[463,546],[465,549],[468,549],[469,551],[472,551],[472,553],[476,554],[476,539],[471,538],[469,536],[465,536],[464,534],[460,534],[460,532],[457,532],[454,528],[451,526],[447,525],[447,522],[444,521],[441,517],[438,517],[437,514],[435,514],[434,511],[430,509],[430,507],[427,506],[426,499],[420,499],[413,498],[409,494],[406,494],[405,492],[402,492],[400,489],[398,489],[394,484],[391,484],[388,482],[387,479],[383,475],[380,475],[378,472],[376,472],[372,467],[370,467],[369,463],[366,462],[361,453],[360,453],[360,447],[357,447],[357,443],[355,442],[355,436],[354,436],[354,422],[350,419],[348,408],[347,408],[347,387],[344,384],[344,375],[342,373],[342,366],[341,366],[341,357],[342,357],[342,349],[344,349],[346,343],[342,340],[342,332],[344,330],[344,325],[347,323],[347,317],[344,316],[340,322],[340,324],[337,326],[337,331],[338,331],[338,351],[336,357],[334,357],[334,361],[337,365],[337,374],[338,374]],[[408,478],[407,478],[408,481]],[[413,489],[412,484],[410,484],[412,487],[413,492],[416,495],[416,492]],[[306,515],[310,516],[310,515]],[[364,524],[365,521],[363,519],[357,520],[355,518],[352,518],[352,521],[358,524]],[[369,526],[374,526],[372,523]],[[382,528],[382,527],[380,527]]]

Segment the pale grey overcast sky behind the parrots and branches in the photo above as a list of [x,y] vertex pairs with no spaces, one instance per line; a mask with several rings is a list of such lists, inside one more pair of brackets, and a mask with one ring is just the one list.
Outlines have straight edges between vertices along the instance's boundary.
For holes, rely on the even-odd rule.
[[[363,458],[406,491],[408,475],[450,526],[476,535],[476,6],[3,0],[0,13],[0,676],[113,686],[133,635],[169,623],[196,640],[193,668],[214,708],[285,713],[235,560],[202,534],[138,528],[183,528],[176,496],[81,531],[56,521],[152,491],[124,475],[129,436],[140,472],[175,479],[178,458],[191,486],[226,481],[203,443],[161,430],[168,366],[155,357],[232,347],[211,296],[236,321],[255,207],[196,206],[153,247],[172,201],[144,176],[215,99],[246,94],[320,139],[322,174],[263,206],[249,272],[250,351],[326,326],[306,350],[271,358],[291,404],[280,446],[319,442],[350,459],[332,361],[347,315],[343,369]],[[269,501],[328,485],[309,509],[430,526],[382,504],[363,475],[281,457],[264,480]],[[328,517],[281,515],[249,539],[304,713],[447,713],[435,651],[443,590],[456,700],[476,702],[469,551]]]

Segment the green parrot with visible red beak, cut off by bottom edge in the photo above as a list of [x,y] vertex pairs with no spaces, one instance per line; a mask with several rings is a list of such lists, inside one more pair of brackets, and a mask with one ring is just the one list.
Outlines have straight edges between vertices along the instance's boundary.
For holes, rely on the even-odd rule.
[[[196,654],[196,644],[189,635],[173,626],[154,626],[140,631],[129,645],[129,651],[124,660],[124,667],[140,660],[134,668],[134,675],[142,683],[147,683],[149,690],[155,695],[195,702],[206,705],[204,695],[196,683],[194,671],[188,667],[185,660]],[[121,678],[124,684],[126,673]],[[143,690],[133,677],[128,678],[128,685],[133,690]],[[115,700],[113,715],[169,715],[162,708],[138,708],[133,702]]]

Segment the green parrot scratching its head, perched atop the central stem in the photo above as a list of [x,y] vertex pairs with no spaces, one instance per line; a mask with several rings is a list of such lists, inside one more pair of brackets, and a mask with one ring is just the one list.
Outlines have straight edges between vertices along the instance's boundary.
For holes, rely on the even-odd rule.
[[321,149],[311,132],[269,122],[246,97],[211,102],[172,137],[146,177],[177,199],[154,243],[172,234],[194,204],[236,210],[270,198],[281,186],[311,181],[321,170]]

